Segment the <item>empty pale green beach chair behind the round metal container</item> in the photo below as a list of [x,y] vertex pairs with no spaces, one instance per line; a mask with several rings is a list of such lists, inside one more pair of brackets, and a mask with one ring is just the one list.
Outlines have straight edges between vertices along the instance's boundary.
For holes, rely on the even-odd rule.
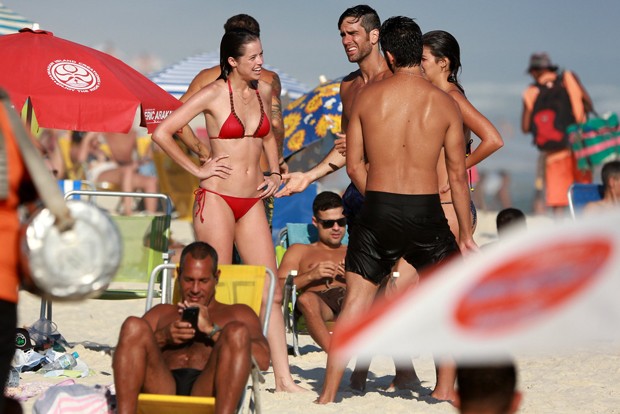
[[[65,199],[75,196],[90,197],[96,202],[99,197],[158,198],[166,206],[163,215],[111,216],[116,223],[123,242],[123,255],[119,269],[112,283],[98,299],[138,299],[147,296],[151,270],[169,260],[170,215],[172,205],[165,194],[126,193],[113,191],[72,190]],[[42,299],[41,318],[52,321],[52,302]]]

